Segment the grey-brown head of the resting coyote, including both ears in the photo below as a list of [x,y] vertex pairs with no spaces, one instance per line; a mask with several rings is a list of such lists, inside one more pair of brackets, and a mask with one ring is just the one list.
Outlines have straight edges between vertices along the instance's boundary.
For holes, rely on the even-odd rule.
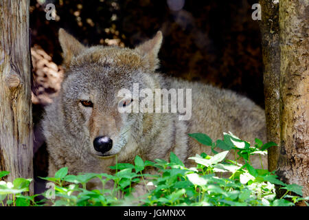
[[[143,113],[122,113],[131,108],[133,97],[118,97],[121,89],[133,91],[158,87],[149,74],[157,69],[162,34],[135,49],[85,47],[65,30],[59,41],[67,67],[60,92],[65,126],[87,155],[105,158],[136,151],[132,142],[141,137]],[[139,91],[137,91],[139,92]],[[126,147],[129,144],[132,146]]]

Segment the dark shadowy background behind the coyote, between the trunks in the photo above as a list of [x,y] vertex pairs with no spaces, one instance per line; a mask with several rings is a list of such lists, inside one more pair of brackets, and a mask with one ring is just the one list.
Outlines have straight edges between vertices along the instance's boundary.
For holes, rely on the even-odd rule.
[[[45,18],[47,3],[56,7],[54,21]],[[59,28],[85,45],[121,47],[134,47],[161,30],[159,70],[163,74],[232,89],[264,107],[261,37],[258,21],[251,18],[253,3],[258,1],[31,0],[32,50],[40,48],[38,53],[46,53],[32,57],[35,175],[47,175],[39,122],[45,100],[59,89],[61,77],[57,74],[63,72]],[[40,64],[44,59],[47,64]],[[54,64],[56,70],[50,74]]]

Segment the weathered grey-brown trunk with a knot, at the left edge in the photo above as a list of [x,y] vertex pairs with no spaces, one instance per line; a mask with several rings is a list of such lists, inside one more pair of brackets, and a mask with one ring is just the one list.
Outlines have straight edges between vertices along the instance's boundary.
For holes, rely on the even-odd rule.
[[29,4],[0,1],[0,170],[10,171],[8,181],[33,178]]

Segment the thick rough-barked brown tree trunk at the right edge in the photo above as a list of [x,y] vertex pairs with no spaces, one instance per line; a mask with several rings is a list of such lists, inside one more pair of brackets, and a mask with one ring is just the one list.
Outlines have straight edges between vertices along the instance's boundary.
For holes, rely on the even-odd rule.
[[280,129],[277,175],[309,196],[309,1],[279,1]]

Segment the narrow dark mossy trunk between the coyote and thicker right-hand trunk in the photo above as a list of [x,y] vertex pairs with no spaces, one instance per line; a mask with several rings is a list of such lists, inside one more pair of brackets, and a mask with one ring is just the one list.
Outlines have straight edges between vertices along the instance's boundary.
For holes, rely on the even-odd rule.
[[[265,114],[267,141],[280,144],[279,127],[279,85],[280,85],[280,50],[279,50],[279,3],[260,0],[262,21],[262,58],[264,65],[263,81],[265,96]],[[268,148],[268,170],[277,168],[279,147]]]

